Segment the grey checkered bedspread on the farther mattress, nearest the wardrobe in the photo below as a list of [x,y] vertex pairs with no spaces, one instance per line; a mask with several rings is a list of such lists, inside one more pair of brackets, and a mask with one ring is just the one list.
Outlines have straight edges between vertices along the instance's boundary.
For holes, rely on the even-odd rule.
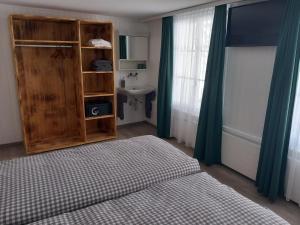
[[197,160],[153,136],[2,161],[0,224],[38,221],[199,170]]

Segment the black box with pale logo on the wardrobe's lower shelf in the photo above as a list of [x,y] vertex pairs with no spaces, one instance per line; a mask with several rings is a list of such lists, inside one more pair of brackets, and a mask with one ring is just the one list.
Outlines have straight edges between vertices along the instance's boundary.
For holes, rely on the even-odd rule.
[[104,116],[112,114],[112,103],[109,101],[95,101],[85,103],[86,117]]

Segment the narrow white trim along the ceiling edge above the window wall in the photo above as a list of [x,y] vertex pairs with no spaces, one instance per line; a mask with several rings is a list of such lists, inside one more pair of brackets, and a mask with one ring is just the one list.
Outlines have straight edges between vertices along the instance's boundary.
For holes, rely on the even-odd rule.
[[142,20],[142,22],[144,22],[144,23],[150,22],[152,20],[161,19],[161,18],[167,17],[167,16],[174,16],[176,14],[188,12],[190,10],[215,7],[215,6],[224,5],[224,4],[240,5],[240,4],[250,4],[250,3],[256,3],[256,2],[265,2],[265,1],[268,1],[268,0],[214,0],[212,2],[208,2],[208,3],[196,5],[196,6],[191,6],[191,7],[187,7],[187,8],[183,8],[183,9],[178,9],[178,10],[174,10],[174,11],[162,14],[162,15],[150,17],[148,19]]

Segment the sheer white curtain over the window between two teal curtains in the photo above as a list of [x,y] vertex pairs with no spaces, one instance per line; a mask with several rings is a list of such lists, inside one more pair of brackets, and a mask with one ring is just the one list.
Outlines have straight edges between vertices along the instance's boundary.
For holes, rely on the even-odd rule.
[[195,146],[214,8],[174,16],[171,136]]

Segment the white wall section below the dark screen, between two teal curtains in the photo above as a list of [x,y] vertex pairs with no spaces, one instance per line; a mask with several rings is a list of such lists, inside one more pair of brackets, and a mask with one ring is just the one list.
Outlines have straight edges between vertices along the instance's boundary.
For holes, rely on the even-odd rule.
[[227,48],[222,163],[255,179],[275,47]]

